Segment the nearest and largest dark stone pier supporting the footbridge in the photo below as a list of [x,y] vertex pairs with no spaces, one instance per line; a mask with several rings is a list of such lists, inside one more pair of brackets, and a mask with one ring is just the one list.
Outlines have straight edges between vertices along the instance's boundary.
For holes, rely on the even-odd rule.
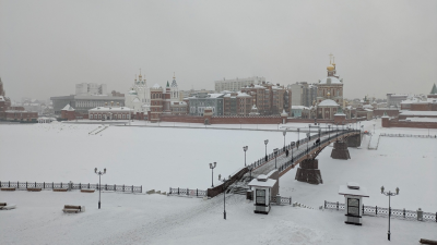
[[323,184],[319,168],[318,159],[305,159],[299,163],[296,171],[295,180],[309,184]]

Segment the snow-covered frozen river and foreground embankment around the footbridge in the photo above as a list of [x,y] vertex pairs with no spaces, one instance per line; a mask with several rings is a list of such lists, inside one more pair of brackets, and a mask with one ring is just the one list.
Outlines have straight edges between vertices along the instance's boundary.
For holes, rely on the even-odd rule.
[[[380,120],[363,122],[365,130],[379,133],[427,135],[428,130],[381,128]],[[143,185],[144,189],[168,187],[206,188],[211,184],[209,162],[216,161],[216,175],[227,175],[244,166],[243,146],[248,145],[247,162],[283,145],[282,125],[211,125],[161,123],[160,127],[109,126],[88,135],[97,125],[39,124],[0,125],[0,180],[36,182],[97,182],[95,167],[107,168],[103,183]],[[307,126],[287,124],[286,126]],[[179,126],[179,128],[177,128]],[[182,128],[182,127],[192,128]],[[199,127],[199,128],[193,128]],[[236,130],[216,130],[228,127]],[[245,128],[252,128],[248,131]],[[432,130],[430,134],[437,134]],[[300,134],[300,138],[304,134]],[[297,139],[287,133],[286,143]],[[323,184],[294,180],[291,170],[280,180],[282,196],[292,196],[317,208],[323,200],[341,201],[339,185],[349,181],[366,186],[365,205],[388,206],[380,186],[400,195],[393,208],[437,211],[437,139],[381,137],[377,150],[368,150],[368,137],[359,149],[350,148],[350,160],[333,160],[327,147],[318,157]],[[210,200],[80,192],[0,192],[0,203],[17,208],[0,211],[1,244],[390,244],[387,218],[364,217],[364,225],[344,224],[344,215],[272,207],[268,216],[255,215],[243,196],[231,196],[223,220],[223,195]],[[78,215],[61,212],[63,205],[84,205]],[[437,240],[437,223],[391,221],[391,244],[418,244],[420,238]],[[4,241],[4,242],[3,242]]]

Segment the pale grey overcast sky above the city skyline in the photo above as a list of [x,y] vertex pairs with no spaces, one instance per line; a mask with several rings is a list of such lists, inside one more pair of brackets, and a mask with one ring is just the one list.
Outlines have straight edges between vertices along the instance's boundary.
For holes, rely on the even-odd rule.
[[4,1],[0,77],[7,96],[46,99],[76,83],[127,93],[176,72],[180,89],[264,76],[326,77],[335,57],[346,98],[427,94],[437,77],[437,1]]

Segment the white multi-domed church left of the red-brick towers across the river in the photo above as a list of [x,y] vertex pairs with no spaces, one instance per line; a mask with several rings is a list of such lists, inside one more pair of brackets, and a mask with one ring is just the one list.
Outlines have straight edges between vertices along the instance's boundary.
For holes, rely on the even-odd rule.
[[134,113],[144,112],[145,114],[147,111],[150,111],[150,95],[151,93],[150,88],[147,87],[147,83],[140,74],[138,79],[135,77],[133,85],[125,96],[125,106],[131,108]]

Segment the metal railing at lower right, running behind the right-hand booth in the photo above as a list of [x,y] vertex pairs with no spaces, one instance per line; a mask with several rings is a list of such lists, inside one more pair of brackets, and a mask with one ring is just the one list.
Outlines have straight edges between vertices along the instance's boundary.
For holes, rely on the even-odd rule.
[[[324,209],[332,210],[344,210],[344,204],[324,201]],[[388,217],[391,212],[391,217],[404,220],[417,220],[417,211],[411,211],[405,209],[394,209],[394,208],[381,208],[378,206],[364,206],[363,205],[363,216],[374,216],[374,217]],[[437,222],[437,212],[423,212],[423,221]]]

